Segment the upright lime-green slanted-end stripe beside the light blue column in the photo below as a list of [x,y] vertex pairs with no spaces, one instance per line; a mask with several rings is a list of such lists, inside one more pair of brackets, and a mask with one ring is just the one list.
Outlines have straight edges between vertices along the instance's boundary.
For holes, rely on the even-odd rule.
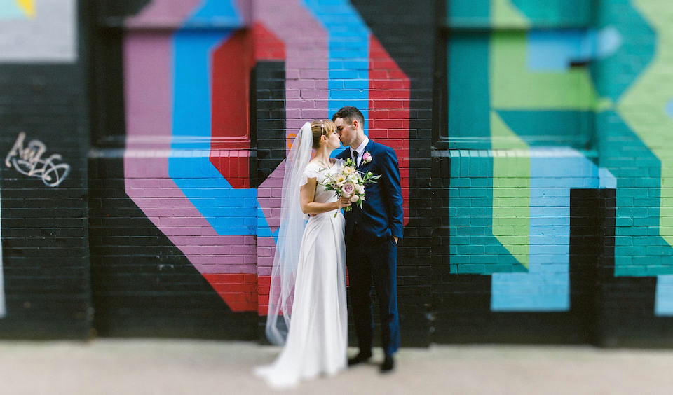
[[493,188],[493,235],[527,269],[531,244],[529,146],[495,111],[491,111],[491,144],[493,178],[501,181]]

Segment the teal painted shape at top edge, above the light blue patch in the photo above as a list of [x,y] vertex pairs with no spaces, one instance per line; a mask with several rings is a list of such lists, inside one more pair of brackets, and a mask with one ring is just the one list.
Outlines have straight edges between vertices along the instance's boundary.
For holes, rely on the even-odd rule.
[[512,0],[533,26],[588,26],[595,0]]

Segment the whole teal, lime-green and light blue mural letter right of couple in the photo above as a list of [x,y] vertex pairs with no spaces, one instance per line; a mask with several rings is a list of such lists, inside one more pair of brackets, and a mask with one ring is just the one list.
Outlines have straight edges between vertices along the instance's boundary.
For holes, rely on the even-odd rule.
[[494,312],[568,311],[571,190],[615,189],[613,276],[657,277],[673,315],[664,3],[479,4],[447,1],[495,27],[447,48],[451,271],[491,275]]

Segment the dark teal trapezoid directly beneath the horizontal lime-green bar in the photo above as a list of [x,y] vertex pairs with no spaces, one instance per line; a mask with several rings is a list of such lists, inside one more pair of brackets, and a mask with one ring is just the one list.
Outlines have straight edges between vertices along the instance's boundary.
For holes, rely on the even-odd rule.
[[529,146],[589,148],[594,134],[594,111],[498,111],[505,124]]

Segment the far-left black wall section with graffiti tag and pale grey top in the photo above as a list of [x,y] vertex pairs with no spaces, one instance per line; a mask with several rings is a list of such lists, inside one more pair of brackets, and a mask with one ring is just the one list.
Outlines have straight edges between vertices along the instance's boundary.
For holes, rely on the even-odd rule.
[[77,15],[76,1],[0,9],[3,338],[86,338],[91,328],[88,64]]

